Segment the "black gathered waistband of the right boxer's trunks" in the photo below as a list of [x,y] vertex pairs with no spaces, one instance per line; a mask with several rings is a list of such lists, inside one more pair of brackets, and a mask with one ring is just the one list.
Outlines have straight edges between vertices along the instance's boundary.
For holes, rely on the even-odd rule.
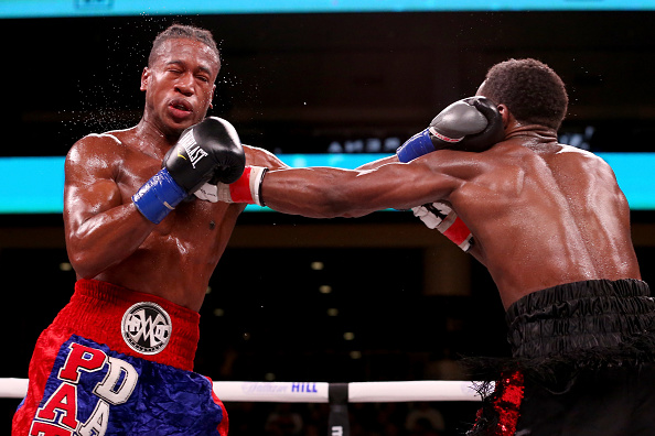
[[506,319],[515,359],[588,355],[611,363],[612,353],[623,361],[641,356],[640,345],[655,349],[655,301],[638,280],[592,280],[534,292],[509,306]]

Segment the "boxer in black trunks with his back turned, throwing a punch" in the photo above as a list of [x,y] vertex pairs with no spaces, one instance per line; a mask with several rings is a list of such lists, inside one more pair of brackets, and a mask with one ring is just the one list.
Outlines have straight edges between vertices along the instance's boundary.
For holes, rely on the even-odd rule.
[[414,208],[429,227],[457,215],[470,229],[472,243],[457,242],[490,271],[514,349],[471,435],[655,434],[645,412],[655,406],[655,305],[612,168],[558,143],[568,96],[547,65],[494,65],[477,96],[494,101],[503,120],[503,138],[488,150],[463,152],[452,141],[426,152],[428,129],[397,156],[357,170],[269,171],[251,186],[287,214]]

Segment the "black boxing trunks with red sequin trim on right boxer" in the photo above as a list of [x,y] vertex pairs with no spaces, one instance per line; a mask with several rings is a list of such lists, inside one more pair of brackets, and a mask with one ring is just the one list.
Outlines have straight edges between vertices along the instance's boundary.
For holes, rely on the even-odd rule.
[[[655,435],[655,301],[638,280],[526,295],[507,309],[512,359],[466,435]],[[491,360],[480,360],[485,370]]]

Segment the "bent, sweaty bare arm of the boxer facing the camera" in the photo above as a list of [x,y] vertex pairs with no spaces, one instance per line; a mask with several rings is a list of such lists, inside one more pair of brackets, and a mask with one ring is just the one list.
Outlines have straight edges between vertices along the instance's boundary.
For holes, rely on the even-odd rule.
[[133,203],[122,204],[116,184],[117,140],[89,135],[66,156],[64,226],[69,261],[82,277],[94,277],[120,262],[155,227]]

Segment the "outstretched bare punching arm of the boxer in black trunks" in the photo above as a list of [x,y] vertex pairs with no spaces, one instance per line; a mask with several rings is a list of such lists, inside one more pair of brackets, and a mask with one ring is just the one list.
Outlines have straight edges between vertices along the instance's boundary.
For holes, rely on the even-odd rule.
[[262,179],[260,196],[273,210],[312,218],[409,209],[447,199],[464,183],[454,173],[440,171],[448,163],[449,159],[441,155],[420,157],[409,164],[388,163],[368,171],[331,167],[269,171]]

